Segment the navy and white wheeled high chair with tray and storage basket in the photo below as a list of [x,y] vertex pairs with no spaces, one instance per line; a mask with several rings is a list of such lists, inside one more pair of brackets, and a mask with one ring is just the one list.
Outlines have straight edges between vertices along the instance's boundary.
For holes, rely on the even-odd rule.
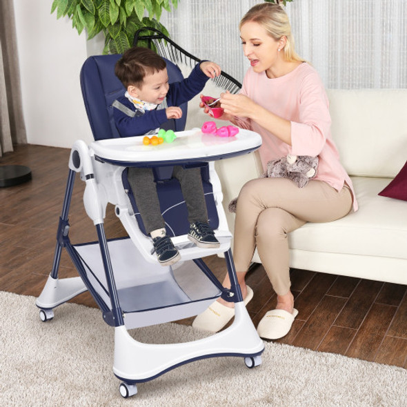
[[[200,129],[180,131],[183,125],[179,121],[168,123],[177,131],[177,139],[173,143],[153,147],[143,146],[142,137],[120,138],[112,121],[111,107],[123,92],[114,75],[119,57],[90,57],[83,64],[83,99],[96,141],[87,146],[78,140],[72,146],[52,271],[36,305],[40,308],[41,320],[48,321],[54,317],[53,308],[89,290],[102,311],[104,321],[115,328],[113,372],[121,380],[121,395],[128,397],[137,393],[137,383],[154,379],[197,359],[241,356],[248,367],[261,364],[264,344],[252,324],[237,284],[230,252],[231,235],[221,206],[220,181],[213,166],[216,159],[255,150],[261,139],[248,130],[241,130],[239,135],[228,140],[203,135]],[[178,68],[170,61],[167,64],[170,82],[181,79]],[[221,247],[197,248],[188,241],[186,226],[177,218],[183,216],[182,211],[179,215],[165,209],[170,216],[167,219],[164,214],[164,219],[173,231],[172,241],[179,248],[181,261],[163,267],[151,253],[151,239],[143,233],[143,226],[137,221],[137,208],[132,206],[130,191],[126,189],[126,183],[123,186],[123,179],[129,166],[152,166],[156,169],[159,197],[165,204],[178,193],[177,185],[168,176],[168,168],[175,164],[201,166],[210,222],[216,229],[215,235]],[[77,172],[86,182],[83,202],[97,230],[98,241],[95,242],[72,244],[69,239],[68,212]],[[108,202],[115,206],[115,213],[126,228],[128,237],[106,237],[103,219]],[[182,201],[170,201],[172,206],[182,206]],[[175,217],[175,222],[172,222],[172,217]],[[75,264],[79,277],[58,278],[63,248]],[[221,286],[201,259],[220,252],[226,257],[232,281],[230,290]],[[215,335],[182,344],[152,345],[142,344],[128,333],[128,329],[197,315],[218,297],[235,302],[235,320],[229,328]]]

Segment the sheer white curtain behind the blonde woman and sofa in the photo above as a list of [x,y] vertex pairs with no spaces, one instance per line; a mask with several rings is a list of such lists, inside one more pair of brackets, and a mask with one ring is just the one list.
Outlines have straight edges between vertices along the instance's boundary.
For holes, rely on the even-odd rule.
[[[238,25],[254,0],[181,0],[161,22],[183,48],[242,81]],[[293,0],[297,52],[327,88],[407,88],[407,0]]]

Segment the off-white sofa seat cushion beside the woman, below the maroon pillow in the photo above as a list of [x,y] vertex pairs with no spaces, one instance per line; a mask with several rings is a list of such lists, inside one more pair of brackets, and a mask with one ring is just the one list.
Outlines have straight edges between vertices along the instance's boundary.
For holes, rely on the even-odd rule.
[[407,259],[407,203],[377,195],[389,179],[352,181],[360,209],[337,221],[305,224],[288,236],[290,248]]

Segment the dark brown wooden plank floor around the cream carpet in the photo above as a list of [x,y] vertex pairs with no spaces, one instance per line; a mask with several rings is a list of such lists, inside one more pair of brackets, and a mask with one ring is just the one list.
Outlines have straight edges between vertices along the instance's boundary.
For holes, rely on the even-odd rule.
[[[69,154],[64,148],[16,146],[0,159],[0,165],[32,169],[32,181],[0,188],[0,290],[40,294],[52,267]],[[77,177],[69,216],[73,243],[97,240],[83,209],[83,186]],[[126,235],[112,206],[105,227],[108,237]],[[208,257],[206,263],[224,277],[223,259]],[[63,251],[59,277],[74,276],[77,271]],[[277,342],[407,368],[407,286],[306,270],[292,270],[291,278],[299,315]],[[262,266],[248,274],[247,282],[255,292],[247,308],[257,325],[275,307],[275,294]],[[87,292],[72,301],[95,306]]]

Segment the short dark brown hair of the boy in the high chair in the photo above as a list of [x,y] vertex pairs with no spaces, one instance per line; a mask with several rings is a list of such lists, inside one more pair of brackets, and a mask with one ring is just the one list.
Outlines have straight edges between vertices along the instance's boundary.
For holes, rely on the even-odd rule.
[[117,61],[115,74],[120,79],[123,86],[141,87],[147,75],[165,69],[167,66],[159,54],[149,48],[132,47],[123,53]]

